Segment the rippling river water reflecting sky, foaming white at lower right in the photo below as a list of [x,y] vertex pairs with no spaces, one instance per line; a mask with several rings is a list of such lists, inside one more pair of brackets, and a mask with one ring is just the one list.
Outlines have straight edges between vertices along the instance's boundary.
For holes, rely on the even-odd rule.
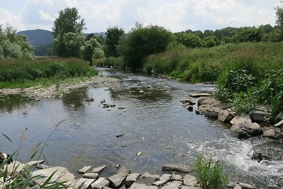
[[[0,130],[12,142],[1,136],[0,150],[13,153],[23,140],[18,157],[26,161],[35,144],[44,143],[50,136],[43,151],[50,166],[66,166],[76,174],[83,166],[106,164],[104,176],[115,173],[115,164],[133,172],[161,173],[163,164],[191,165],[197,156],[212,156],[224,164],[232,181],[282,187],[281,159],[259,163],[250,158],[255,144],[272,143],[270,139],[233,138],[227,125],[182,107],[180,100],[188,98],[189,93],[212,92],[214,86],[112,69],[100,72],[120,79],[122,90],[82,88],[62,98],[39,102],[21,96],[1,98]],[[94,101],[86,102],[87,98]],[[116,106],[103,108],[103,99]],[[23,134],[25,128],[28,132]],[[279,142],[283,151],[282,146]]]

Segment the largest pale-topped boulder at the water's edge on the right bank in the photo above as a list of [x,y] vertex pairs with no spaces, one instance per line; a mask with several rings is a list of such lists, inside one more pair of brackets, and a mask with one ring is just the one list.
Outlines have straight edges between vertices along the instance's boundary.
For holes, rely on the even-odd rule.
[[245,115],[238,115],[233,120],[233,124],[230,128],[230,132],[233,137],[237,138],[248,138],[262,134],[262,128],[258,123],[252,122],[250,118]]

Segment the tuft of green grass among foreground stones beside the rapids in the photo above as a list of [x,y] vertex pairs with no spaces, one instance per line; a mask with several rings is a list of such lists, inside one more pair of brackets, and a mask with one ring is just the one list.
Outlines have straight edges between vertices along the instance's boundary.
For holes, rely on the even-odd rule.
[[223,173],[223,167],[219,161],[214,163],[212,158],[197,157],[194,173],[200,186],[204,189],[226,188],[228,183],[228,176]]

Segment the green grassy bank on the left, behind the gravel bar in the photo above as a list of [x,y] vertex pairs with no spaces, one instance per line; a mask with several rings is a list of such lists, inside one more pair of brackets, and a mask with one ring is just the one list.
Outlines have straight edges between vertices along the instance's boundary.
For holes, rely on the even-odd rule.
[[66,79],[96,74],[98,71],[82,59],[5,60],[0,62],[0,88],[50,86]]

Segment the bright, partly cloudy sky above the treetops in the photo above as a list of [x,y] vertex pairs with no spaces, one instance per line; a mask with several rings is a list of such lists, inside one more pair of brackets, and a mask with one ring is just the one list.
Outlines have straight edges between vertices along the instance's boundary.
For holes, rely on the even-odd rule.
[[64,8],[76,7],[84,33],[134,24],[161,25],[172,32],[275,25],[280,0],[0,0],[0,24],[16,30],[52,30]]

